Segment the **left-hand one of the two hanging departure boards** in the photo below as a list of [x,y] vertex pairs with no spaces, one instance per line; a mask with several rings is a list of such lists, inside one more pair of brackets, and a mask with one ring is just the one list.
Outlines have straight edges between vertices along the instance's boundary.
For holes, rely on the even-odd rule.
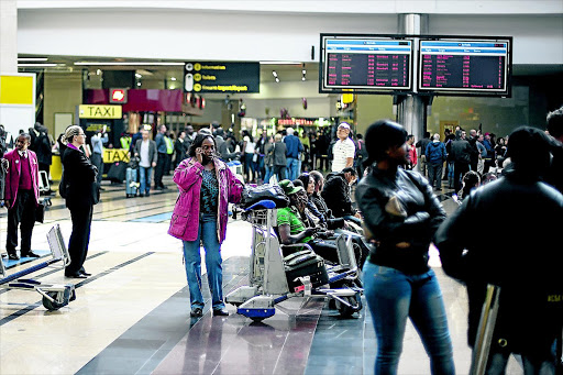
[[412,90],[412,40],[321,34],[320,92]]

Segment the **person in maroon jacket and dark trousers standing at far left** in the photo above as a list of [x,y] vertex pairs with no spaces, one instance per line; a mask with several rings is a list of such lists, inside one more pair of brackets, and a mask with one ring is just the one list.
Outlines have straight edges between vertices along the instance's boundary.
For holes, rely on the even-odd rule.
[[30,134],[23,133],[15,139],[15,150],[5,153],[8,172],[5,174],[5,207],[8,208],[8,233],[5,250],[10,260],[19,260],[18,227],[21,232],[20,254],[22,257],[38,257],[31,250],[31,236],[35,225],[35,209],[38,205],[38,162],[31,150]]

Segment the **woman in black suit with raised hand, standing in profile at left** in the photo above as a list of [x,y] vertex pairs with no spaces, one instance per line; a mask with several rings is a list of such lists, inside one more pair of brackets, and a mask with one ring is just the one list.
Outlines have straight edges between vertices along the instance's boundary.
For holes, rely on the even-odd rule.
[[73,233],[68,242],[70,264],[65,268],[65,276],[86,278],[90,274],[82,265],[88,254],[93,205],[99,199],[96,184],[98,169],[80,150],[86,142],[86,134],[80,126],[68,126],[65,141],[67,148],[63,155],[64,173],[60,184],[73,220]]

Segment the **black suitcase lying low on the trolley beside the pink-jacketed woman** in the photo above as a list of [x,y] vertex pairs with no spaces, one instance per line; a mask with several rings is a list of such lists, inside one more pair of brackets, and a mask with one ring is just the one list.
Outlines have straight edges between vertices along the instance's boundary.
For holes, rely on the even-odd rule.
[[300,276],[309,276],[313,288],[329,284],[329,274],[324,266],[324,260],[310,250],[287,255],[284,262],[287,285],[290,291],[298,291],[298,287],[302,286],[299,280],[296,280]]

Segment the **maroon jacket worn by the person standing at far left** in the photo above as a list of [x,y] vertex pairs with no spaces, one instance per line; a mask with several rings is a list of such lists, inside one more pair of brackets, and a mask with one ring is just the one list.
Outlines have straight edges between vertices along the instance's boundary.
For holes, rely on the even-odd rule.
[[[40,168],[37,164],[37,155],[35,155],[33,151],[27,150],[27,157],[30,158],[31,181],[33,186],[33,192],[35,195],[35,206],[37,206],[40,201]],[[11,206],[9,208],[13,208],[13,205],[15,203],[15,197],[18,197],[18,187],[20,185],[20,174],[22,169],[18,150],[12,150],[5,153],[4,158],[10,163],[8,166],[8,173],[5,175],[4,199],[10,200]]]

